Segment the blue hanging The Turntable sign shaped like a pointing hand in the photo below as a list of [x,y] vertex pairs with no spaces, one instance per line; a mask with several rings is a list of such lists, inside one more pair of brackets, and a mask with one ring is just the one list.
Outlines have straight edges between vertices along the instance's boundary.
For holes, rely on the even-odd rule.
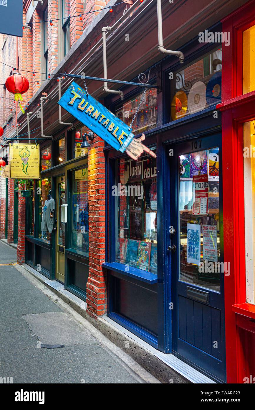
[[86,95],[86,91],[76,82],[72,82],[58,103],[115,150],[122,153],[126,150],[126,153],[133,159],[138,159],[143,151],[156,157],[149,148],[141,143],[145,139],[144,134],[140,138],[133,139],[134,134],[130,132],[129,126],[95,98],[89,94]]

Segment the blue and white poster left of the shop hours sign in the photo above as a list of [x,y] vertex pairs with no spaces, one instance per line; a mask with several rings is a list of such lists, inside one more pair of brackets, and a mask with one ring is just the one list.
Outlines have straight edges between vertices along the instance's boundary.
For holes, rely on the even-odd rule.
[[187,263],[200,264],[201,260],[201,225],[187,223]]

